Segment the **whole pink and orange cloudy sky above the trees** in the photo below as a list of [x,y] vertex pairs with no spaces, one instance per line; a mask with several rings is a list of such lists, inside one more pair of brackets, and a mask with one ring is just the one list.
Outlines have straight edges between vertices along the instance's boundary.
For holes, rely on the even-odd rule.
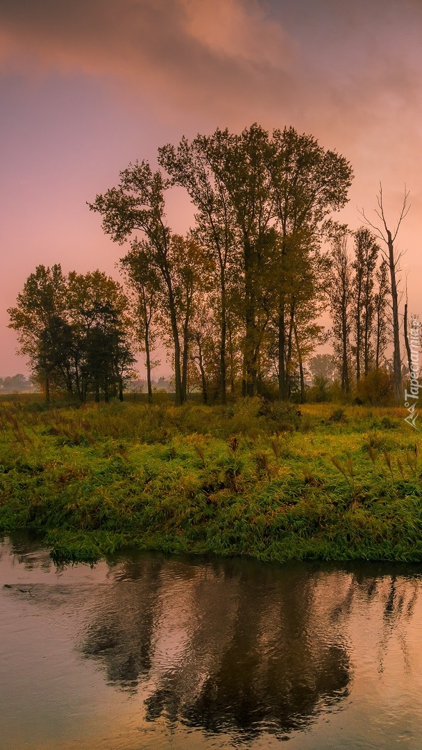
[[[0,0],[0,376],[28,374],[6,310],[38,264],[118,278],[86,202],[217,126],[293,125],[346,156],[352,229],[380,181],[394,226],[406,185],[401,286],[421,314],[421,38],[421,0]],[[192,223],[180,188],[167,213]]]

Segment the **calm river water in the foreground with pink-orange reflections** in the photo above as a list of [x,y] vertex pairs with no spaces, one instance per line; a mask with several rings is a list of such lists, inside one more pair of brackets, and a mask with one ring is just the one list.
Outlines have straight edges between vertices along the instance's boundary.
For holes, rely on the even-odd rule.
[[422,747],[418,566],[0,544],[4,750]]

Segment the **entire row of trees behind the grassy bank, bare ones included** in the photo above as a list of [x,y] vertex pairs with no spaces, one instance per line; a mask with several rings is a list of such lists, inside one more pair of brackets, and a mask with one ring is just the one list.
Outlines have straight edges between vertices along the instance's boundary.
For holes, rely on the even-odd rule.
[[[124,287],[100,271],[64,276],[59,265],[38,266],[9,311],[47,398],[51,386],[80,401],[89,393],[123,398],[138,347],[151,400],[160,342],[176,404],[189,387],[201,389],[205,403],[224,404],[228,392],[304,401],[306,363],[327,341],[344,394],[383,371],[383,387],[394,383],[399,398],[397,255],[382,193],[381,229],[336,223],[352,167],[292,127],[217,129],[159,148],[158,162],[156,171],[146,161],[130,164],[118,187],[90,204],[104,231],[127,243]],[[196,210],[185,236],[166,220],[166,191],[175,185]],[[326,310],[328,332],[319,323]]]

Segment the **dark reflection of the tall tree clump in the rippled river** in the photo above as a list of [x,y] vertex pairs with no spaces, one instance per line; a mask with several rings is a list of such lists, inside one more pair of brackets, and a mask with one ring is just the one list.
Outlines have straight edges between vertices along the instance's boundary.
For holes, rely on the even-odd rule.
[[348,694],[349,577],[148,555],[121,565],[81,649],[110,682],[145,691],[147,719],[247,741],[304,728]]

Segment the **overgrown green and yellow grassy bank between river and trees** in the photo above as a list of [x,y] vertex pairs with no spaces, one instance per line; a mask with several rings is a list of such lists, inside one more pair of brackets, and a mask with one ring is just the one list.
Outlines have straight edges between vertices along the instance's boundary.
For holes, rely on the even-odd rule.
[[125,545],[265,560],[422,560],[404,410],[0,404],[0,531],[55,559]]

